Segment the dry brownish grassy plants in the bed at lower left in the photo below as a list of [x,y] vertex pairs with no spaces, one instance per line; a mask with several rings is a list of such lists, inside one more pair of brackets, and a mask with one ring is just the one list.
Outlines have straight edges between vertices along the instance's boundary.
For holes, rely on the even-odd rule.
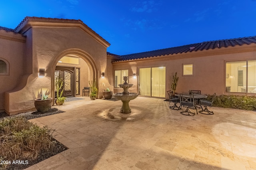
[[0,160],[35,160],[42,150],[54,147],[53,132],[22,116],[0,121]]

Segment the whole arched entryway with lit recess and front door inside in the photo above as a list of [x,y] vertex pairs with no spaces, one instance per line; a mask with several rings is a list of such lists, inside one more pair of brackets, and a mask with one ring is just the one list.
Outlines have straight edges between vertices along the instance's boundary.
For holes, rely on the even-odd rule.
[[82,96],[82,89],[88,87],[88,81],[96,80],[98,84],[98,69],[93,58],[80,49],[62,51],[52,64],[52,90],[56,96],[55,79],[60,76],[64,80],[64,96]]

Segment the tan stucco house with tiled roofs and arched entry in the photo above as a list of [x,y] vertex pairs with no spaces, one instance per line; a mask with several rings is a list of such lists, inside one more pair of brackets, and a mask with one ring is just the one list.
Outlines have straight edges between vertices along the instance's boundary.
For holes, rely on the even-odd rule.
[[0,27],[0,44],[0,112],[10,115],[35,110],[41,94],[54,97],[56,76],[65,80],[66,97],[82,96],[96,80],[102,98],[128,76],[130,91],[166,98],[175,72],[177,93],[256,93],[256,36],[116,55],[81,20],[26,17],[15,29]]

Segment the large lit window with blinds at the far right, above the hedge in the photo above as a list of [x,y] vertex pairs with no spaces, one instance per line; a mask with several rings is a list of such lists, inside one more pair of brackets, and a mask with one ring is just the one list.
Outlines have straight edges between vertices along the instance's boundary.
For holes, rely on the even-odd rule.
[[256,93],[256,60],[226,62],[226,92]]

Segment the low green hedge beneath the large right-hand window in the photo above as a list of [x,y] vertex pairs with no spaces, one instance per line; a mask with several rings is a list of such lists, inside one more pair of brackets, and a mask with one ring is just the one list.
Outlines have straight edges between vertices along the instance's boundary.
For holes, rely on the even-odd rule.
[[[212,95],[208,95],[208,100],[212,99]],[[215,107],[256,110],[256,97],[254,96],[238,96],[238,95],[220,95],[216,96],[213,102]]]

